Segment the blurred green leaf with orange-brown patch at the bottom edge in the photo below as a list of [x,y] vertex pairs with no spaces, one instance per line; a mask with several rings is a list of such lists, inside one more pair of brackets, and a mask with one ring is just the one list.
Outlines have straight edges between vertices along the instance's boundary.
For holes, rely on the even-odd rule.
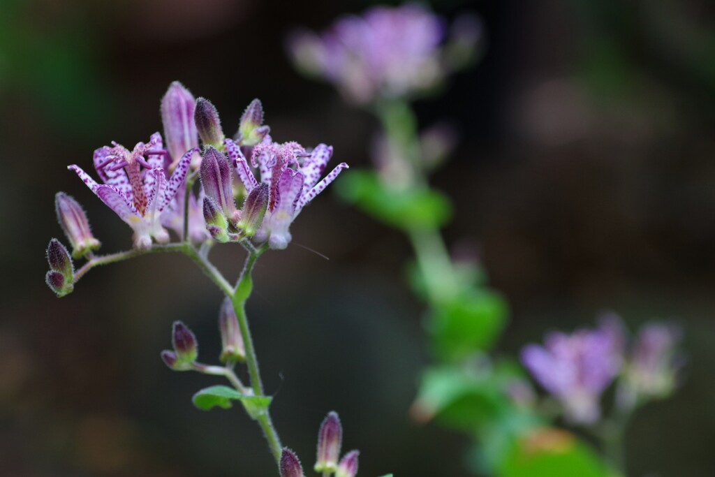
[[607,477],[606,465],[576,436],[538,428],[515,441],[498,469],[499,477]]

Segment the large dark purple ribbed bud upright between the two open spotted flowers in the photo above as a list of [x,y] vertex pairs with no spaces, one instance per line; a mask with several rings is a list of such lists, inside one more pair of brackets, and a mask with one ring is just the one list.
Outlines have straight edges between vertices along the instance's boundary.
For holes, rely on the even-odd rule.
[[213,146],[204,149],[201,161],[201,183],[207,197],[211,197],[221,207],[224,215],[232,224],[239,218],[239,212],[233,202],[231,168],[227,157]]

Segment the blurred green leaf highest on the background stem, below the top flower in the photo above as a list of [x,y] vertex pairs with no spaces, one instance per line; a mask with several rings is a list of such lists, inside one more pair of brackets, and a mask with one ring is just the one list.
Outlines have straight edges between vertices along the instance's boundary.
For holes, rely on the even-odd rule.
[[383,222],[402,230],[441,227],[452,216],[441,192],[412,188],[391,190],[373,171],[350,171],[337,187],[340,196]]

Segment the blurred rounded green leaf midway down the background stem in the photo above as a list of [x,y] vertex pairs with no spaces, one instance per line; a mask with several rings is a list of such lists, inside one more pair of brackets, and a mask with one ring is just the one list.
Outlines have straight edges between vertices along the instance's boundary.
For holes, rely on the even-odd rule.
[[488,289],[469,289],[433,310],[428,322],[435,353],[459,360],[488,350],[506,325],[506,301]]

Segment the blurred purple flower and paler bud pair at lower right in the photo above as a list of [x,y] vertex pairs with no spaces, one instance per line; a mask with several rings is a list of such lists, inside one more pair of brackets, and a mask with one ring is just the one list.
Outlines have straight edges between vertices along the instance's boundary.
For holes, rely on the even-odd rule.
[[630,410],[640,398],[660,398],[675,387],[674,350],[679,330],[649,324],[627,342],[620,318],[609,314],[592,330],[549,333],[544,345],[526,345],[521,360],[563,406],[566,420],[592,424],[601,418],[601,395],[618,375],[618,405]]

